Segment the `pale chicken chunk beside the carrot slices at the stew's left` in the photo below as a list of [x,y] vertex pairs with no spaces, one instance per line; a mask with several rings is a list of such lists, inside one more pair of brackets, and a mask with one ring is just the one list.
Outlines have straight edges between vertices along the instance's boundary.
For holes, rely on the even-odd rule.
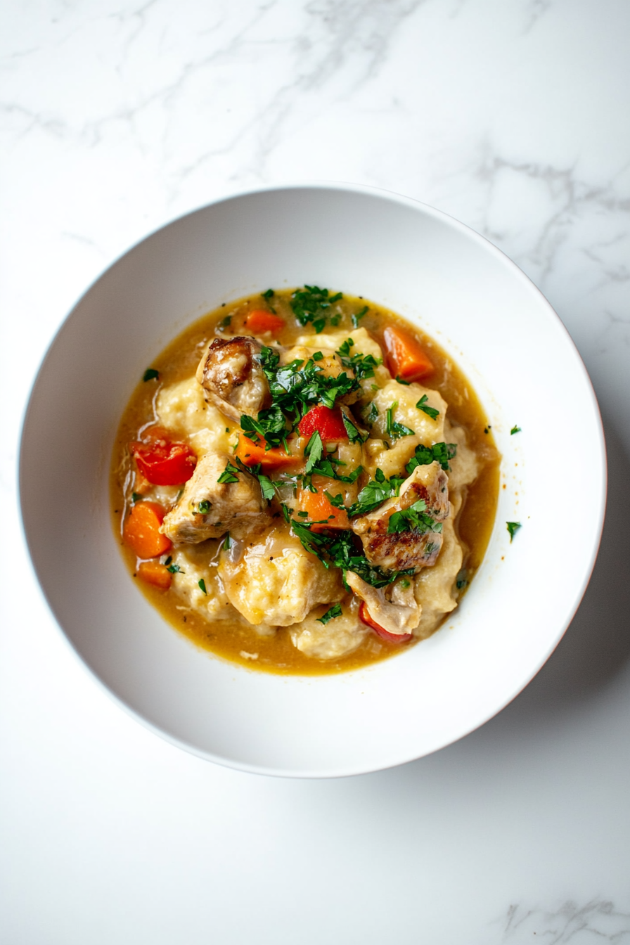
[[[179,502],[162,522],[161,531],[174,544],[220,538],[227,531],[234,538],[242,538],[269,524],[261,487],[254,476],[239,472],[238,482],[218,482],[229,462],[230,456],[213,452],[199,459]],[[203,511],[199,511],[199,503]]]

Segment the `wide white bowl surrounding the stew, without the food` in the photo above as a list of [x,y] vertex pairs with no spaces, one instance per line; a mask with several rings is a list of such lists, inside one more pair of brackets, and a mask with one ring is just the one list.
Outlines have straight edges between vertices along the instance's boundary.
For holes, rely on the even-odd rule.
[[[485,406],[504,488],[484,564],[432,638],[368,669],[283,678],[223,662],[162,621],[114,541],[108,473],[131,391],[172,337],[221,301],[305,282],[365,296],[434,335]],[[515,423],[522,432],[510,436]],[[569,335],[498,249],[410,199],[347,185],[282,187],[176,220],[94,283],[33,387],[20,489],[48,603],[128,711],[224,765],[329,777],[448,745],[532,679],[595,560],[604,438]],[[512,543],[506,521],[522,523]]]

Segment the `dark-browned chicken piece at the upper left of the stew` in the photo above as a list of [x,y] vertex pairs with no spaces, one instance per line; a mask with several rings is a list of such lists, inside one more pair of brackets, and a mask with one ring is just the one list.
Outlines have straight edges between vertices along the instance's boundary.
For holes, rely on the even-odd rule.
[[196,379],[206,401],[231,420],[240,421],[242,414],[257,417],[271,404],[269,385],[255,356],[262,349],[260,341],[251,337],[214,338],[199,361]]

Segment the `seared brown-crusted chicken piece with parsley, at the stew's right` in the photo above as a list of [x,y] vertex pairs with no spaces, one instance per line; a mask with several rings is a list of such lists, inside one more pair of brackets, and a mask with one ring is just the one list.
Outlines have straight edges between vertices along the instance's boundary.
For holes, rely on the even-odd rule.
[[426,504],[426,515],[431,516],[435,523],[444,522],[449,515],[448,486],[448,476],[439,463],[417,466],[402,483],[397,498],[389,499],[373,512],[355,519],[351,523],[352,531],[363,541],[370,564],[388,571],[431,567],[442,547],[441,528],[439,531],[428,528],[424,532],[412,528],[389,535],[387,527],[395,512],[413,506],[419,499]]

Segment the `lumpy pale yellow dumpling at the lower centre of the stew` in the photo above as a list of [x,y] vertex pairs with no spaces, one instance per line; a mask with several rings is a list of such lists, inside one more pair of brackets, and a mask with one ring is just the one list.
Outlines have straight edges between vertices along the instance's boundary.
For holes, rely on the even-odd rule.
[[230,603],[254,625],[289,627],[317,604],[330,607],[345,595],[340,573],[277,527],[245,549],[234,542],[218,571]]

